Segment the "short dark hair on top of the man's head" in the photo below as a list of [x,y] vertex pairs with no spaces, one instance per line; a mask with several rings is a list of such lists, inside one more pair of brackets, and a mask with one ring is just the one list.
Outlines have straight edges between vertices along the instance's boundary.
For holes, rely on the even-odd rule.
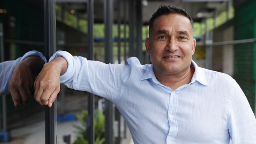
[[183,15],[183,16],[187,17],[190,20],[190,23],[191,23],[191,26],[193,29],[193,23],[194,23],[193,19],[191,18],[191,16],[189,15],[189,13],[187,13],[187,11],[185,9],[183,9],[180,6],[171,6],[171,5],[166,6],[166,5],[162,4],[149,20],[149,35],[150,35],[150,31],[151,31],[150,29],[152,28],[153,23],[156,18],[158,18],[162,15],[169,15],[172,13],[176,13],[176,14]]

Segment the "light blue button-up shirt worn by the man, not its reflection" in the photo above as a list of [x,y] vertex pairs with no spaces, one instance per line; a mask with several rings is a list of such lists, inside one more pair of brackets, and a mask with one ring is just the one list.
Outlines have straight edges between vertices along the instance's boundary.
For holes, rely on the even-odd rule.
[[256,119],[245,94],[227,74],[200,68],[189,84],[172,90],[152,65],[131,57],[128,65],[88,61],[58,51],[68,62],[61,83],[113,102],[135,144],[256,144]]

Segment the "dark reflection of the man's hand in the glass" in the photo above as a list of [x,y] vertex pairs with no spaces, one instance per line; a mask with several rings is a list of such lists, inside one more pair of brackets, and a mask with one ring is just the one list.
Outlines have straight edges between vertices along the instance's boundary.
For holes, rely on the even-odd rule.
[[15,107],[22,103],[26,104],[28,98],[33,97],[35,76],[41,71],[44,63],[41,58],[31,56],[24,59],[13,69],[9,81],[9,90]]

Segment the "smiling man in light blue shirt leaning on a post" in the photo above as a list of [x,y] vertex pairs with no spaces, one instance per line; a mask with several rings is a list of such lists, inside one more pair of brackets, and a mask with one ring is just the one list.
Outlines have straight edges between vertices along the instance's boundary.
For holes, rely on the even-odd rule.
[[135,144],[255,144],[256,120],[243,91],[230,76],[198,67],[195,43],[189,14],[162,5],[145,40],[152,65],[135,57],[107,65],[58,51],[38,75],[34,97],[51,107],[59,83],[102,96],[119,109]]

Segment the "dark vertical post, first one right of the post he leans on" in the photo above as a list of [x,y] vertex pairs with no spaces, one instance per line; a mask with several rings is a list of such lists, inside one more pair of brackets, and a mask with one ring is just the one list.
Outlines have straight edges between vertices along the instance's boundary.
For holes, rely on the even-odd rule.
[[[93,0],[88,0],[87,4],[87,9],[88,9],[88,59],[89,60],[94,60],[94,52],[93,52],[93,24],[94,24],[94,5],[93,5]],[[88,134],[89,134],[89,144],[94,144],[95,140],[95,127],[94,127],[94,95],[89,93],[89,98],[88,98],[88,111],[89,111],[89,127],[88,127]]]

